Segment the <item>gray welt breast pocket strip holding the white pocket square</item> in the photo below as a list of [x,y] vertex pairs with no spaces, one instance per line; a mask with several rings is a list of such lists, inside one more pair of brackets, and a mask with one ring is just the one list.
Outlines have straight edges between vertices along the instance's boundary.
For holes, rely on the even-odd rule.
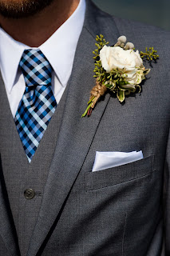
[[153,172],[153,162],[154,155],[152,154],[147,158],[123,166],[88,172],[85,174],[85,188],[86,190],[97,190],[142,178]]

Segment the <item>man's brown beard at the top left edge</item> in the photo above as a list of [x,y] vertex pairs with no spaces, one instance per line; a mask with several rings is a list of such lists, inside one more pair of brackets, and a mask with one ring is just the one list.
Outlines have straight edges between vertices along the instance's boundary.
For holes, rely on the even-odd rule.
[[53,2],[53,0],[0,0],[0,14],[4,18],[26,18]]

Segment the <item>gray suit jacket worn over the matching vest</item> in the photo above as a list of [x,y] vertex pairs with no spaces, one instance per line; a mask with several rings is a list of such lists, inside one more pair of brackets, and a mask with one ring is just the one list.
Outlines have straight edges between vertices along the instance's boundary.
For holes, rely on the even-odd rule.
[[[97,34],[104,34],[110,45],[124,34],[136,49],[154,46],[160,59],[152,63],[141,94],[129,96],[125,104],[106,94],[90,118],[81,118],[95,82],[92,52]],[[170,255],[169,42],[168,32],[113,18],[87,1],[61,130],[27,256]],[[144,159],[92,173],[96,151],[132,150],[142,150]],[[0,244],[3,255],[18,256],[5,190],[2,182]]]

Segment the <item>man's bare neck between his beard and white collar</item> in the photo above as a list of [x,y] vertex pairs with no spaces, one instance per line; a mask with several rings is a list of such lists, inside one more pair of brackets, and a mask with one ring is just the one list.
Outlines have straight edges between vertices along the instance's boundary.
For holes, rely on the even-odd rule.
[[[0,5],[16,5],[21,9],[22,3],[26,1],[34,2],[34,0],[0,0]],[[23,13],[18,14],[17,18],[0,14],[0,26],[15,40],[30,47],[38,47],[73,14],[79,2],[80,0],[51,0],[48,6],[33,14],[26,14],[24,18]]]

